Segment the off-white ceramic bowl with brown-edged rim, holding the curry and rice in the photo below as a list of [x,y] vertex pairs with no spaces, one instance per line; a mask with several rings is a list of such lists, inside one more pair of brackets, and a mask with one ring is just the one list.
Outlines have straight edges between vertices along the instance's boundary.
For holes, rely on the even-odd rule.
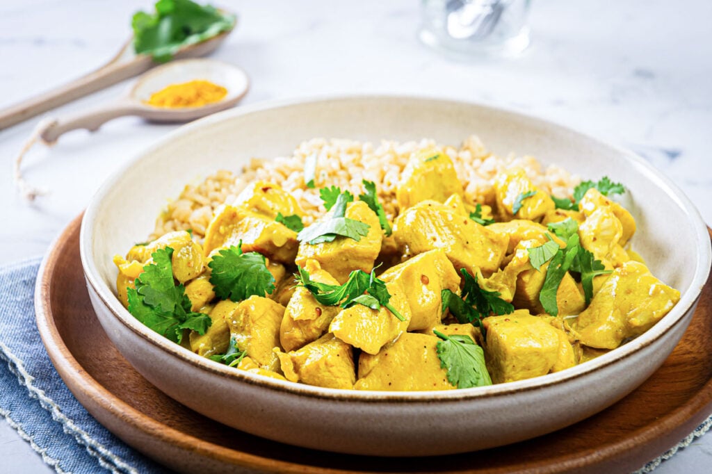
[[[509,384],[445,392],[340,391],[240,372],[158,335],[115,296],[115,253],[153,228],[167,199],[216,169],[289,154],[312,137],[458,144],[477,134],[498,154],[533,154],[587,179],[629,190],[634,248],[681,300],[651,330],[592,362]],[[686,329],[711,262],[710,239],[689,199],[642,159],[533,117],[463,102],[328,98],[252,105],[184,126],[100,189],[84,216],[81,259],[108,336],[159,389],[248,433],[308,448],[366,455],[439,455],[501,446],[555,431],[621,399],[666,359]]]

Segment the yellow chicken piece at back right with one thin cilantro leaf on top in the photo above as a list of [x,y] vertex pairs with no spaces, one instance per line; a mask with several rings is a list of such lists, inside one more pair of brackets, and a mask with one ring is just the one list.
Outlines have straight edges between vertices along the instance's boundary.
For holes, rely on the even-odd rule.
[[[541,221],[548,211],[555,209],[551,196],[534,186],[521,168],[508,169],[494,179],[497,201],[496,216],[498,221],[511,221],[513,218]],[[534,191],[533,196],[521,200],[521,208],[514,214],[513,206],[518,196]]]

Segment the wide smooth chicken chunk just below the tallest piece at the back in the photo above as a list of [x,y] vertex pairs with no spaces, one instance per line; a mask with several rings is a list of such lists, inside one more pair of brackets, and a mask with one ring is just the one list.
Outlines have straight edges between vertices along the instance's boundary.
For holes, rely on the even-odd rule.
[[490,275],[499,268],[509,236],[489,230],[435,201],[422,201],[400,214],[393,235],[412,255],[441,248],[455,268]]

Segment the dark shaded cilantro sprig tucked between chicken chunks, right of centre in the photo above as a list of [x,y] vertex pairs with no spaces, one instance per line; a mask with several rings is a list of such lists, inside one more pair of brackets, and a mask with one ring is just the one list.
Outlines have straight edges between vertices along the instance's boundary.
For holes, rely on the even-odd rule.
[[[458,296],[450,290],[442,290],[443,312],[448,309],[461,324],[471,322],[473,325],[481,327],[482,319],[491,313],[508,315],[514,311],[514,306],[511,303],[499,297],[501,293],[480,288],[476,275],[474,277],[470,275],[466,268],[462,268],[460,273],[464,278],[462,296]],[[463,301],[465,304],[462,304]]]

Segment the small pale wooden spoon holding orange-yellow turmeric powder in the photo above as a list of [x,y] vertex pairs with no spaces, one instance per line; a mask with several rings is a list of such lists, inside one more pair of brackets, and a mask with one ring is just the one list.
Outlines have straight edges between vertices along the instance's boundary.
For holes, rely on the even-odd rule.
[[[227,95],[218,102],[200,107],[155,107],[147,103],[152,93],[168,85],[199,79],[223,86],[227,89]],[[142,75],[129,93],[117,102],[65,119],[48,121],[38,130],[38,135],[44,142],[53,143],[69,130],[85,128],[94,131],[108,120],[124,115],[137,115],[154,122],[188,122],[233,107],[244,97],[248,88],[246,73],[235,65],[213,59],[172,61]]]

